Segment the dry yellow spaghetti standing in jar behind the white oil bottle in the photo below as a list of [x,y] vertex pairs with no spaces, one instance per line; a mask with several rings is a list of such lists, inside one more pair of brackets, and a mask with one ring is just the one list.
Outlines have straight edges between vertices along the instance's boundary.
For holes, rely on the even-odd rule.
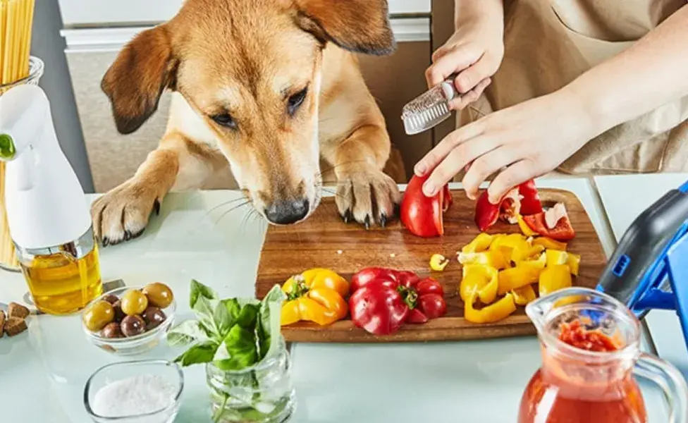
[[[0,95],[29,77],[35,0],[0,0]],[[5,163],[0,161],[0,266],[18,268],[5,214]]]

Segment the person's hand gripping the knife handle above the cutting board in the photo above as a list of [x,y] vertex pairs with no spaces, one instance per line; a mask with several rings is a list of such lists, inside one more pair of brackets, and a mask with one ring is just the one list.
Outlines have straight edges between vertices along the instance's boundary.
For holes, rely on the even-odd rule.
[[476,101],[491,82],[504,56],[502,0],[457,1],[456,31],[432,55],[425,71],[428,87],[457,74],[454,85],[462,95],[449,102],[460,110]]

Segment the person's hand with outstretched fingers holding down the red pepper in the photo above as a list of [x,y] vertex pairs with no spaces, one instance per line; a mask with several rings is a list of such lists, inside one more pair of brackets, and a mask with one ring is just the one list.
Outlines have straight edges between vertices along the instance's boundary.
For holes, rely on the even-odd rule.
[[474,200],[480,184],[499,172],[488,189],[490,202],[498,204],[513,187],[556,168],[595,131],[576,94],[560,90],[455,130],[416,164],[414,173],[432,171],[423,185],[424,194],[432,196],[468,166],[462,183]]

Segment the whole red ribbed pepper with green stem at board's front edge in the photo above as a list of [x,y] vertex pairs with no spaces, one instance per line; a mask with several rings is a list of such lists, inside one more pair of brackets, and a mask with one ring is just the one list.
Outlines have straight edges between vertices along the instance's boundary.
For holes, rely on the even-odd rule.
[[362,269],[352,277],[351,289],[351,320],[376,335],[393,333],[405,322],[425,323],[447,309],[441,284],[412,271]]

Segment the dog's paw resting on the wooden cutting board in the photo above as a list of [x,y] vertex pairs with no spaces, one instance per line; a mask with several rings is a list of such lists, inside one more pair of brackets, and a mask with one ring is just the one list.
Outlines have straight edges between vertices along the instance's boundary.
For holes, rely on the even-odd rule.
[[397,184],[381,171],[345,173],[339,176],[337,209],[345,222],[352,220],[370,228],[385,226],[401,201]]

